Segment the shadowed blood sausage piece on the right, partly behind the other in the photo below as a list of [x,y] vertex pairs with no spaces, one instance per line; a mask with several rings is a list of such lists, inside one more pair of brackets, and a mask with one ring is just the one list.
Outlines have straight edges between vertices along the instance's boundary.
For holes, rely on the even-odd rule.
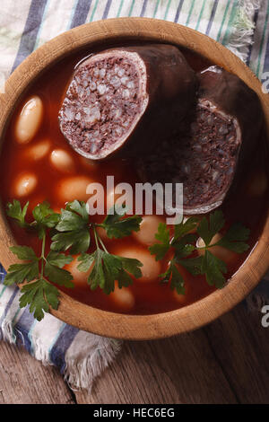
[[[195,111],[143,157],[143,180],[183,183],[184,214],[220,207],[231,186],[238,186],[259,142],[263,110],[256,92],[236,75],[211,66],[198,75]],[[174,201],[175,202],[175,201]]]

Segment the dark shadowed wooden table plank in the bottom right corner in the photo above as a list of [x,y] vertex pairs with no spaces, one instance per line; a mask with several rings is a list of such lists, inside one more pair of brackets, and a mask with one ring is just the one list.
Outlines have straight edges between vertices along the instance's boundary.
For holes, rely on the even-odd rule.
[[244,304],[204,329],[214,356],[241,403],[269,402],[269,330]]

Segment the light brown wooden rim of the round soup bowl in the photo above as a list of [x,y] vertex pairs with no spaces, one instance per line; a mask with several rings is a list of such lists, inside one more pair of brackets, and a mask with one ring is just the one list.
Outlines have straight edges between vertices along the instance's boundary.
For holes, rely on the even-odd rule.
[[[0,95],[1,143],[4,139],[4,128],[13,110],[22,98],[23,92],[40,72],[74,49],[89,46],[91,51],[93,46],[104,40],[106,42],[151,40],[178,44],[195,50],[216,65],[238,75],[256,91],[263,104],[266,125],[269,128],[269,95],[262,92],[256,76],[227,48],[197,31],[175,23],[146,18],[119,18],[88,23],[67,31],[24,60],[6,82],[5,93]],[[136,316],[100,311],[62,294],[60,306],[57,311],[52,310],[52,314],[82,330],[112,338],[164,338],[202,327],[239,303],[258,284],[269,268],[269,215],[268,210],[265,212],[267,215],[263,233],[244,265],[239,268],[227,286],[196,303],[177,311]],[[9,251],[9,246],[14,244],[13,234],[5,219],[4,207],[1,206],[0,260],[4,268],[16,262],[12,252]]]

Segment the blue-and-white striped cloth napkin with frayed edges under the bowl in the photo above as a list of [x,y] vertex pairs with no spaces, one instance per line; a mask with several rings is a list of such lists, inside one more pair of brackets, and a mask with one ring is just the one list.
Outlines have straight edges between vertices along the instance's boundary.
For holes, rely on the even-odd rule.
[[[187,25],[230,48],[260,78],[269,71],[269,0],[2,0],[0,81],[59,33],[119,16]],[[91,390],[121,343],[77,330],[49,314],[35,321],[28,309],[19,308],[18,289],[3,285],[5,272],[0,269],[0,339],[23,345],[44,365],[56,365],[74,387]]]

